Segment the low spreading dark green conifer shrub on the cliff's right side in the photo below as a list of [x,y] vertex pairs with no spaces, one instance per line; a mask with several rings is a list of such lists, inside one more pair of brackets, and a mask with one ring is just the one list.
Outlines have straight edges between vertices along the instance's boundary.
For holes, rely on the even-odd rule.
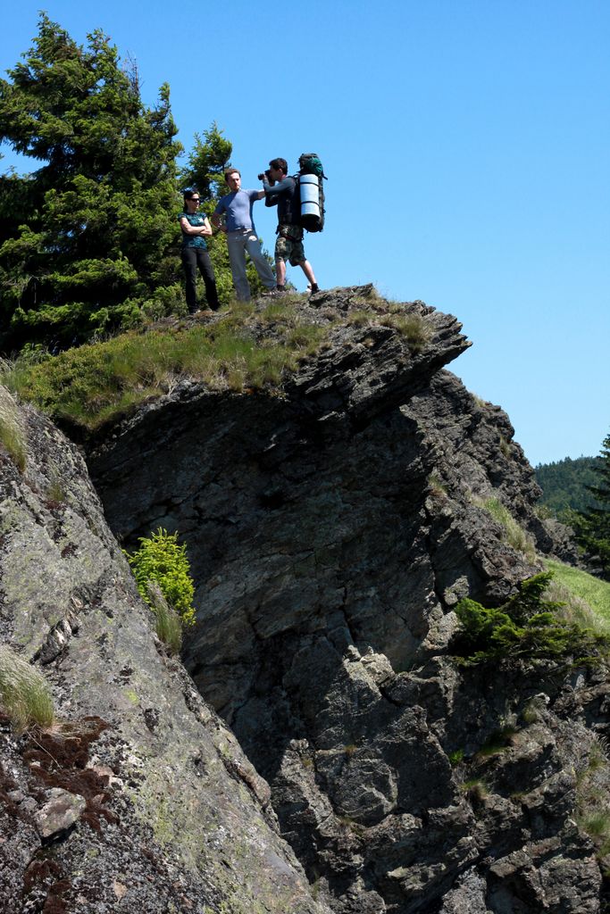
[[455,608],[460,629],[452,653],[467,665],[515,660],[559,660],[607,654],[610,639],[557,616],[561,603],[544,600],[552,573],[522,581],[519,592],[498,609],[476,600]]

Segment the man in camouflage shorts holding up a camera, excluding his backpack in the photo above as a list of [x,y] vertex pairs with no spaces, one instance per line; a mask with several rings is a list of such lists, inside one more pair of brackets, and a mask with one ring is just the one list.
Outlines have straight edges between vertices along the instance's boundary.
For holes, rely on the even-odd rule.
[[[273,184],[269,183],[270,179]],[[285,159],[271,160],[269,172],[262,175],[262,187],[266,206],[277,206],[278,226],[275,229],[277,235],[275,242],[277,292],[285,292],[286,260],[292,267],[301,267],[311,286],[311,292],[319,292],[311,263],[305,260],[303,228],[299,225],[298,187],[294,177],[288,175],[288,165]]]

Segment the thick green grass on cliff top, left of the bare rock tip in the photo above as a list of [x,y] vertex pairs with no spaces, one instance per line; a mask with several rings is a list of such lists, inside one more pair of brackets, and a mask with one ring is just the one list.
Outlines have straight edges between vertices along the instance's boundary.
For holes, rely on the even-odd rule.
[[215,324],[134,331],[35,365],[17,360],[3,380],[49,415],[94,430],[184,377],[215,390],[279,387],[284,371],[294,370],[326,333],[300,325],[284,307],[274,317],[273,337],[258,340],[249,317],[247,308],[238,308]]

